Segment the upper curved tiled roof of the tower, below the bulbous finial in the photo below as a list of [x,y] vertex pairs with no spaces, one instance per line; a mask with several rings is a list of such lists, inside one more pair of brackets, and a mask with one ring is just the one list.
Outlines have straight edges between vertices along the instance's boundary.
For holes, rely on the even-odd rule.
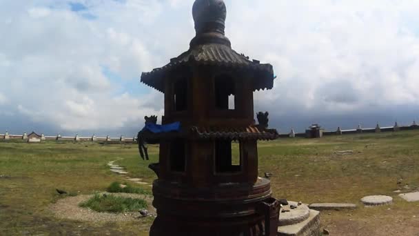
[[141,81],[148,86],[163,92],[163,76],[169,70],[188,63],[212,66],[228,66],[257,72],[254,78],[254,90],[270,89],[274,86],[274,69],[270,64],[263,64],[249,57],[238,54],[229,46],[220,43],[201,44],[183,52],[180,56],[171,59],[170,63],[162,68],[156,68],[151,72],[143,72]]

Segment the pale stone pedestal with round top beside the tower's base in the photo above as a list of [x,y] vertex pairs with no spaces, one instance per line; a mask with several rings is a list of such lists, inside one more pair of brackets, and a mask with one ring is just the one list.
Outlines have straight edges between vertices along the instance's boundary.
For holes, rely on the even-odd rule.
[[[289,201],[289,204],[295,204]],[[298,210],[298,208],[300,208]],[[320,235],[320,213],[317,210],[309,210],[307,206],[300,205],[295,210],[290,210],[287,213],[280,213],[281,215],[290,214],[292,217],[289,219],[283,219],[282,222],[287,222],[286,225],[278,227],[278,236],[318,236]],[[308,210],[308,214],[307,211]],[[300,217],[299,217],[300,215]]]

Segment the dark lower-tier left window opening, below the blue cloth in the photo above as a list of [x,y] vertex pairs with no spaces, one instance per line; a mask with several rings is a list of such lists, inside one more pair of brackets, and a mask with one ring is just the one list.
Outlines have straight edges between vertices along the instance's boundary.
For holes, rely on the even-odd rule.
[[174,139],[170,142],[170,170],[185,172],[186,164],[186,141]]

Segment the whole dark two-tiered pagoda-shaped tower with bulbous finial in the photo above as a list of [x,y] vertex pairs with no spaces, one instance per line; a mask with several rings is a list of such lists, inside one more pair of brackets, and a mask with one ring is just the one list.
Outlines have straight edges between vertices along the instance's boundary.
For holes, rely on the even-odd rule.
[[164,93],[161,127],[180,124],[139,135],[160,143],[159,164],[150,165],[158,175],[150,235],[276,235],[280,206],[269,179],[258,177],[257,141],[278,132],[267,128],[267,112],[255,124],[253,97],[273,88],[274,70],[232,50],[222,0],[196,0],[192,13],[189,50],[141,75]]

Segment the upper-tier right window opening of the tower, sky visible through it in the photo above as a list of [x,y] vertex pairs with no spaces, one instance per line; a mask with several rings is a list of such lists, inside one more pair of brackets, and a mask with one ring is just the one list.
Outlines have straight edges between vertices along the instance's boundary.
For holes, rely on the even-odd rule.
[[218,110],[234,110],[236,108],[236,86],[234,79],[221,75],[214,79],[215,106]]

